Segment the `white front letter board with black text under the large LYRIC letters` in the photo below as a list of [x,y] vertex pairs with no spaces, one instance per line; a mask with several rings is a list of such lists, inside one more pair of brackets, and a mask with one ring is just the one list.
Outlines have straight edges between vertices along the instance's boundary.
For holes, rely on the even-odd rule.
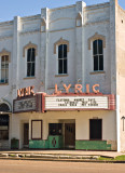
[[45,109],[108,109],[108,96],[45,97]]

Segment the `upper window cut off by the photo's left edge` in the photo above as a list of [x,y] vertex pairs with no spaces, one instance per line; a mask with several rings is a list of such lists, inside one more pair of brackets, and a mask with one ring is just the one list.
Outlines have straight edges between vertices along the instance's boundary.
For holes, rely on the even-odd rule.
[[1,83],[9,82],[9,55],[1,56]]

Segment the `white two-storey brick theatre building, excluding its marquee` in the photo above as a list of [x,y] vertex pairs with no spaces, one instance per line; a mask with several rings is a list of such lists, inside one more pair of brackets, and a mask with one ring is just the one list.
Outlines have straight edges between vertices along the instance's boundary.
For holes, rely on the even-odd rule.
[[[77,2],[42,9],[39,15],[0,23],[1,148],[11,147],[13,137],[19,139],[19,148],[26,147],[27,141],[29,148],[31,145],[44,148],[40,147],[40,139],[48,148],[45,141],[51,143],[53,125],[59,124],[56,129],[57,133],[61,131],[63,147],[75,143],[75,149],[125,150],[124,19],[125,11],[117,0],[110,0],[89,6]],[[115,96],[115,109],[12,112],[18,89],[34,85],[34,92],[52,94],[55,83],[63,92],[63,83],[72,84],[70,92],[74,91],[74,84],[81,83],[84,93],[86,84],[92,93],[92,86],[98,83],[100,93]],[[99,134],[92,134],[93,123],[99,125]],[[74,139],[65,145],[67,125],[74,129]],[[33,139],[37,144],[32,144]]]

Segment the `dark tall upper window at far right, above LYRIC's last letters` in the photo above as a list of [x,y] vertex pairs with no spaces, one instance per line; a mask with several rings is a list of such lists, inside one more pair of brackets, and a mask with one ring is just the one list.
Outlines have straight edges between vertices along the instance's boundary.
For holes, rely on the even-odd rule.
[[103,70],[103,46],[102,40],[93,41],[94,71]]

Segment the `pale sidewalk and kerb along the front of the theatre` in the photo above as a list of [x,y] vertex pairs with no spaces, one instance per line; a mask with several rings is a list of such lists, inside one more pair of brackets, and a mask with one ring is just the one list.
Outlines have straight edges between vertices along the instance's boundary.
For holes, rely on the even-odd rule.
[[39,160],[39,161],[73,161],[73,162],[113,162],[125,161],[99,160],[99,157],[114,159],[125,155],[116,151],[83,151],[83,150],[8,150],[0,151],[0,159],[11,160]]

